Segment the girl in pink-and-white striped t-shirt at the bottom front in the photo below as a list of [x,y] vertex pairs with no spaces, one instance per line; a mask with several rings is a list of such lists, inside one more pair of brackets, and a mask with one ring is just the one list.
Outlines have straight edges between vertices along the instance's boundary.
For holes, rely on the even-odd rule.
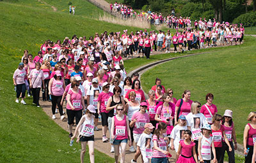
[[152,163],[167,163],[167,155],[169,155],[169,139],[164,136],[166,131],[167,125],[163,122],[160,122],[153,136],[154,151],[152,154]]

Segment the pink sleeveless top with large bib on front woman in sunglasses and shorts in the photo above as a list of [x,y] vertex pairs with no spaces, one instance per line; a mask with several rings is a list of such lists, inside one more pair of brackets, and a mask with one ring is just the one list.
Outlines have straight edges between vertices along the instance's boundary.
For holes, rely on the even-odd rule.
[[116,140],[128,139],[126,115],[124,115],[123,120],[118,120],[116,116],[114,116],[114,119],[114,135],[116,135]]

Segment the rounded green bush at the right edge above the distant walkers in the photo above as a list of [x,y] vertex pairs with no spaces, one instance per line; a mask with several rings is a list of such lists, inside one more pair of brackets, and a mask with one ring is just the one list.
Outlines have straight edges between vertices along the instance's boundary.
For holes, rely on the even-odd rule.
[[235,18],[233,24],[243,23],[244,26],[255,26],[256,25],[256,12],[249,12],[240,15]]

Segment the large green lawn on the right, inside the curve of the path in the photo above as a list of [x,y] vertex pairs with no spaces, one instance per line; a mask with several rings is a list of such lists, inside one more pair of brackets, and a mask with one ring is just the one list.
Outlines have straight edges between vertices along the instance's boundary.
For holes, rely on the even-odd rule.
[[185,89],[191,90],[191,99],[205,104],[205,95],[214,94],[213,103],[218,113],[233,111],[238,143],[243,144],[246,117],[255,111],[255,45],[256,38],[246,36],[241,46],[212,48],[211,53],[171,60],[142,75],[143,89],[161,78],[166,88],[172,88],[174,97],[180,99]]

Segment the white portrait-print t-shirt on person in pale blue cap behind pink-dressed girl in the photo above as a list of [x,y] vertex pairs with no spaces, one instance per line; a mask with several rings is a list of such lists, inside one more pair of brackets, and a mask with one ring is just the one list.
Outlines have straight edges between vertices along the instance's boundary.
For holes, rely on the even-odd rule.
[[[184,139],[184,131],[188,129],[187,126],[175,125],[173,127],[170,138],[174,139],[173,144],[175,151],[178,152],[180,140]],[[182,139],[180,137],[183,137]],[[171,143],[171,142],[170,142]]]

